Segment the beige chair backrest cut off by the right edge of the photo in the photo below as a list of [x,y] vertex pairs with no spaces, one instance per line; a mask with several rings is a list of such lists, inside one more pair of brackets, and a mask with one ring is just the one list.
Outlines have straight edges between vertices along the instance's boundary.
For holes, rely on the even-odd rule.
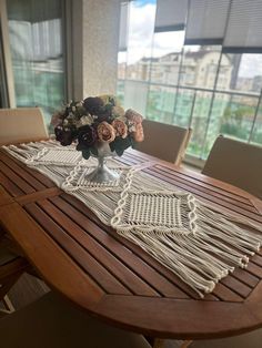
[[203,174],[262,198],[262,147],[220,135],[210,151]]

